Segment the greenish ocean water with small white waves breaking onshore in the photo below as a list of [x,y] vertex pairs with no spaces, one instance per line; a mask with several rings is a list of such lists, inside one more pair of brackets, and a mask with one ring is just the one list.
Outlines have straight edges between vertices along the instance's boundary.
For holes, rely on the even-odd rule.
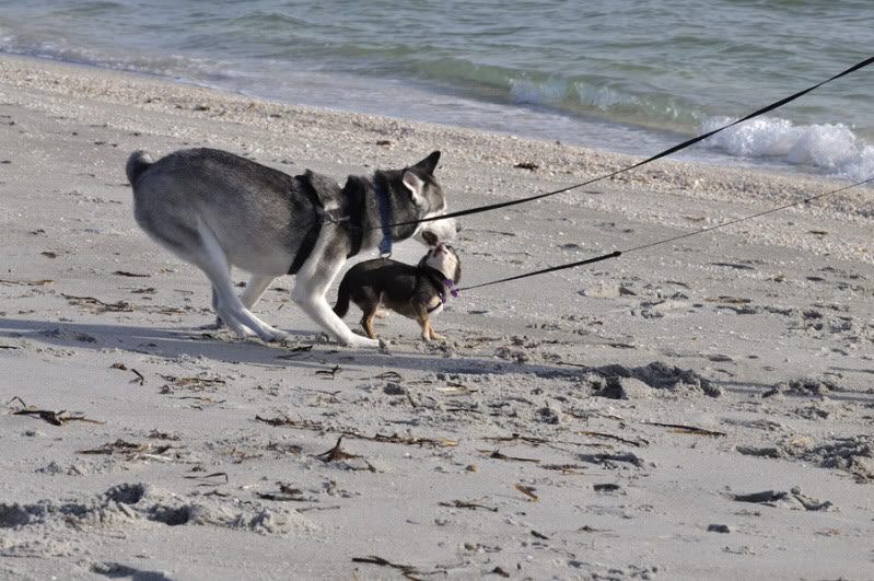
[[[0,0],[0,51],[649,156],[869,58],[872,21],[869,0]],[[674,158],[866,179],[873,95],[874,66]]]

